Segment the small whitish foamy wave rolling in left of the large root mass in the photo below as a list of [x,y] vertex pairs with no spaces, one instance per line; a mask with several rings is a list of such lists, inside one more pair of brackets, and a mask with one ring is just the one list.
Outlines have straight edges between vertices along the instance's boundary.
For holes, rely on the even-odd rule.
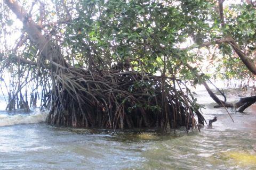
[[11,126],[16,124],[31,124],[44,122],[47,113],[36,113],[36,114],[17,114],[17,115],[0,115],[0,126]]

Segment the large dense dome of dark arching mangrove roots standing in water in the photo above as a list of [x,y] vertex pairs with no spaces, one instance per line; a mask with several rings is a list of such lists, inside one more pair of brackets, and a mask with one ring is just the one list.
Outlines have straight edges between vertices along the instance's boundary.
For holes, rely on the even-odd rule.
[[[60,68],[53,75],[46,122],[74,128],[199,128],[204,118],[163,77],[135,71]],[[169,80],[172,81],[172,80]],[[198,123],[195,121],[197,115]]]

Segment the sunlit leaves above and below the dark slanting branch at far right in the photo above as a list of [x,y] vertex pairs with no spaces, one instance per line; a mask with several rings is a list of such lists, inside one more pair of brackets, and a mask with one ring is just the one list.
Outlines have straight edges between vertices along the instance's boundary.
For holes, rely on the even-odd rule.
[[[256,20],[255,7],[248,4],[233,4],[226,8],[226,27],[223,29],[224,33],[232,35],[237,43],[244,49],[246,55],[251,58],[255,56],[255,27]],[[250,84],[255,81],[254,74],[252,74],[243,64],[237,55],[232,53],[230,46],[221,45],[222,59],[218,65],[217,75],[222,79],[241,80],[244,83]]]

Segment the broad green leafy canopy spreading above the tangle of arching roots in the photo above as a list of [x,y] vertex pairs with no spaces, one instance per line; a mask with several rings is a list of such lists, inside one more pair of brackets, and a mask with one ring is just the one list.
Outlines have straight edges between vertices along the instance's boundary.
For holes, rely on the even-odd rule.
[[[135,70],[139,70],[140,65],[144,64],[148,72],[159,74],[164,72],[165,65],[167,74],[178,74],[177,76],[183,80],[195,81],[198,79],[193,73],[196,70],[188,70],[186,64],[199,64],[209,53],[203,56],[202,53],[198,53],[198,49],[191,51],[191,48],[183,50],[182,47],[194,44],[191,47],[195,48],[206,41],[224,37],[227,33],[246,50],[246,54],[254,54],[255,8],[246,3],[226,4],[225,28],[220,27],[215,1],[72,0],[40,1],[33,3],[33,7],[29,1],[25,6],[26,4],[27,9],[35,11],[31,15],[36,23],[43,25],[43,33],[61,45],[66,59],[76,67],[88,67],[88,63],[94,63],[93,67],[106,69],[117,63],[133,61]],[[17,25],[14,24],[15,19],[9,15],[6,6],[1,4],[1,7],[4,10],[1,14],[1,33],[6,37],[6,34],[12,35],[17,31]],[[55,24],[49,24],[53,21]],[[13,26],[15,29],[10,29]],[[23,40],[26,38],[26,33],[21,36]],[[4,44],[3,38],[1,41]],[[8,39],[6,41],[7,44],[13,44]],[[36,60],[33,58],[37,52],[29,45],[28,40],[25,42],[26,46],[19,48],[20,52],[15,48],[16,52],[14,51],[12,55],[19,53],[31,61]],[[8,50],[11,48],[4,47],[3,44],[2,55],[10,55]],[[224,77],[234,78],[236,75],[233,73],[241,74],[241,70],[231,70],[233,73],[229,71],[231,63],[239,62],[233,60],[237,57],[233,55],[231,47],[222,44],[219,45],[219,49],[215,56],[223,55],[225,58],[220,61],[224,74],[227,73]],[[214,48],[210,47],[210,50]],[[228,60],[232,62],[225,62]],[[242,70],[243,72],[247,74],[246,69]]]

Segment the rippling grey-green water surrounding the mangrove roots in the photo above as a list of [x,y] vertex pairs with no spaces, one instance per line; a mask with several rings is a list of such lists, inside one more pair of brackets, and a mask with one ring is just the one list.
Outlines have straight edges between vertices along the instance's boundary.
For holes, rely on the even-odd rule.
[[[226,90],[228,100],[248,95]],[[57,128],[45,113],[0,112],[0,169],[256,169],[256,105],[234,113],[197,90],[213,129],[175,134]],[[255,150],[255,151],[254,151]]]

